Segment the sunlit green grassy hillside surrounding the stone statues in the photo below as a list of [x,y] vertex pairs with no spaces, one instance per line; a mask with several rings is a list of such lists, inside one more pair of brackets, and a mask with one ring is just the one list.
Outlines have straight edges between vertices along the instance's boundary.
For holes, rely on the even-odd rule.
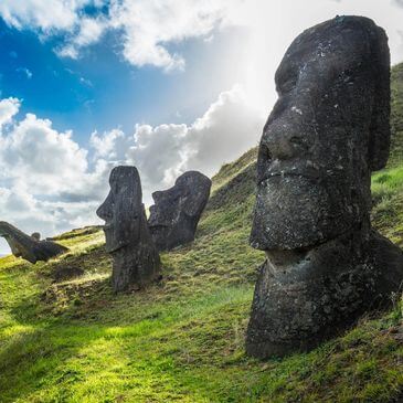
[[[47,264],[1,258],[0,402],[391,402],[401,395],[399,301],[310,353],[265,362],[245,356],[264,257],[247,245],[255,153],[215,176],[195,242],[162,255],[165,278],[148,290],[112,294],[98,229],[61,236],[71,252]],[[373,177],[372,220],[403,246],[403,166],[393,166]],[[77,267],[83,276],[54,279]]]

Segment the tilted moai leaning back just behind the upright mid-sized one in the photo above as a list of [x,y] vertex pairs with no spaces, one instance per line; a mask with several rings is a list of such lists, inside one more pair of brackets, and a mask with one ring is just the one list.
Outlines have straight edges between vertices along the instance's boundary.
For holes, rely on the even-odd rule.
[[152,193],[148,225],[159,251],[194,240],[200,216],[209,201],[211,180],[198,171],[181,174],[168,190]]

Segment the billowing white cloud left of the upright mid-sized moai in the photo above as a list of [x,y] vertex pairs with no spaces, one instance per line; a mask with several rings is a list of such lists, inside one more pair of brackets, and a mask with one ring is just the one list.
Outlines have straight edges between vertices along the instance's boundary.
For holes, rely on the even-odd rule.
[[33,114],[13,119],[20,105],[17,98],[0,100],[6,127],[0,136],[0,219],[44,236],[97,222],[95,210],[107,192],[113,163],[98,159],[89,168],[88,151],[72,132],[59,132]]

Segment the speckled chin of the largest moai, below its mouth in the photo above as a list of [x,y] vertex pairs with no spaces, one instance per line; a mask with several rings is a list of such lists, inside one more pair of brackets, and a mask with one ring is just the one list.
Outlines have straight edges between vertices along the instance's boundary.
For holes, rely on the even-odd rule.
[[[251,233],[257,250],[311,247],[348,232],[357,222],[343,189],[304,177],[273,177],[261,182]],[[359,205],[359,203],[357,203]]]

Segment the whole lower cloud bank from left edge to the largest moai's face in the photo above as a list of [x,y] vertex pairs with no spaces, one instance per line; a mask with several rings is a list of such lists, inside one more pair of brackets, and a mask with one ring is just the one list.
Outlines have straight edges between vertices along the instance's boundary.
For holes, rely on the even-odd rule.
[[256,145],[264,124],[242,88],[234,87],[190,125],[136,125],[132,134],[95,131],[86,150],[49,119],[26,114],[15,120],[20,104],[17,98],[0,100],[6,128],[0,136],[0,220],[44,236],[99,222],[95,211],[108,192],[113,167],[139,169],[149,204],[151,192],[172,185],[185,170],[212,176]]

